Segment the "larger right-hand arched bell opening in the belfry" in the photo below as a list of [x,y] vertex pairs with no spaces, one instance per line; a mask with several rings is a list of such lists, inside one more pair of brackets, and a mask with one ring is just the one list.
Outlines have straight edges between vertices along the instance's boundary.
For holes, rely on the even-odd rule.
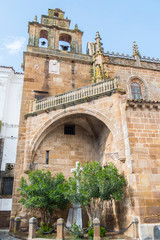
[[59,50],[70,51],[72,38],[69,34],[61,33],[59,36]]

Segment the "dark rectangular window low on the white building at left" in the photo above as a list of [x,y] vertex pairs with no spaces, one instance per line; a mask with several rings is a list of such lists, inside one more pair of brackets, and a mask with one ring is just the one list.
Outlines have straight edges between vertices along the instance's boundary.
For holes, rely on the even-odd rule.
[[13,177],[2,178],[2,195],[12,195]]

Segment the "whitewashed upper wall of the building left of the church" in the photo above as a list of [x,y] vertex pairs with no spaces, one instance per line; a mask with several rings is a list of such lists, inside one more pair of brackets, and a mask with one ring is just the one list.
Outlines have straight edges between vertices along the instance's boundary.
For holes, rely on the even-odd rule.
[[1,171],[5,170],[6,163],[16,160],[23,78],[12,68],[0,67],[0,137],[4,138]]

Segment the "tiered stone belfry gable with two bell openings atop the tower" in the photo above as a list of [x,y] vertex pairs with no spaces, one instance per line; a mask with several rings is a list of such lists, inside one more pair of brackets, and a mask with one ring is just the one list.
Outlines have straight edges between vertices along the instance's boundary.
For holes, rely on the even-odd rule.
[[[37,16],[33,22],[29,22],[29,46],[39,47],[41,38],[46,39],[41,44],[47,45],[48,49],[59,49],[59,42],[65,41],[69,46],[61,45],[62,50],[82,53],[82,35],[77,24],[73,30],[69,29],[70,20],[64,18],[64,12],[58,8],[49,9],[48,15],[42,15],[41,23],[37,22]],[[41,46],[40,46],[41,47]]]

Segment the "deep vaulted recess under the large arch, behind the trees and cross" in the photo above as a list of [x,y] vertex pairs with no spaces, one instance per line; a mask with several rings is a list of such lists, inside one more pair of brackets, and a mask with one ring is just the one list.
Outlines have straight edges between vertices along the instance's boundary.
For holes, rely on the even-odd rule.
[[[67,131],[69,134],[66,134]],[[81,164],[89,161],[104,163],[106,141],[110,134],[110,129],[94,116],[66,116],[46,129],[33,150],[32,162],[37,164],[38,169],[47,167],[53,173],[62,171],[69,177],[76,161]]]

